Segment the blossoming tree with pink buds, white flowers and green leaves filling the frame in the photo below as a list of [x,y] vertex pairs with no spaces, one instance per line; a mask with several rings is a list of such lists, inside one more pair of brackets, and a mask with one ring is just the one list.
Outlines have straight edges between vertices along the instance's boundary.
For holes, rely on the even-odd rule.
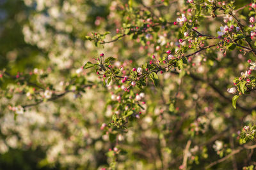
[[68,169],[255,166],[255,1],[24,2],[24,40],[45,57],[1,71],[3,119],[34,114],[28,139],[3,122],[3,146]]

